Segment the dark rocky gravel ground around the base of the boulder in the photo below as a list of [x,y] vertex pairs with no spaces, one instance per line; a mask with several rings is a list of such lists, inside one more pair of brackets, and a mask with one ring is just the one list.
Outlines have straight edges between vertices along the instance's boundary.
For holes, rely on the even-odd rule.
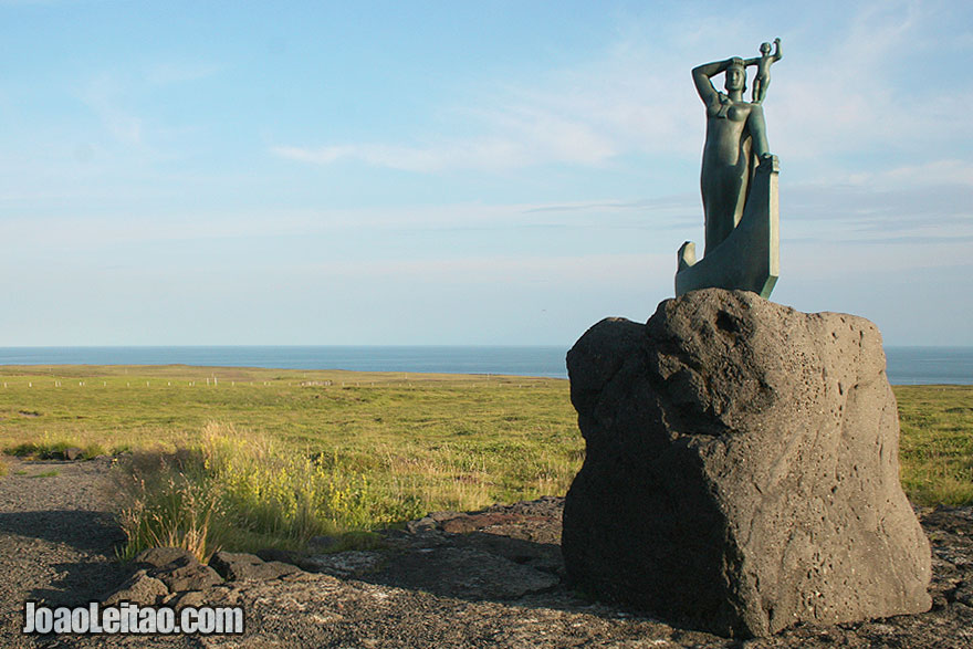
[[[562,499],[440,512],[381,547],[303,555],[177,554],[113,561],[107,459],[11,461],[0,479],[0,645],[4,647],[973,647],[973,507],[920,510],[933,547],[933,608],[799,626],[734,641],[590,601],[564,585]],[[54,473],[56,472],[56,474]],[[127,582],[126,582],[127,579]],[[123,590],[119,592],[119,588]],[[112,598],[245,610],[242,636],[23,636],[23,601]]]

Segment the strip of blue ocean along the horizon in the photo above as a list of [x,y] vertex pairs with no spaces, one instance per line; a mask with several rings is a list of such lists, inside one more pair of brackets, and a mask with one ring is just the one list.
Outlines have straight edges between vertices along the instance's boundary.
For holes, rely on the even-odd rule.
[[[0,347],[0,365],[199,365],[567,378],[561,346]],[[973,385],[973,347],[886,347],[893,385]]]

